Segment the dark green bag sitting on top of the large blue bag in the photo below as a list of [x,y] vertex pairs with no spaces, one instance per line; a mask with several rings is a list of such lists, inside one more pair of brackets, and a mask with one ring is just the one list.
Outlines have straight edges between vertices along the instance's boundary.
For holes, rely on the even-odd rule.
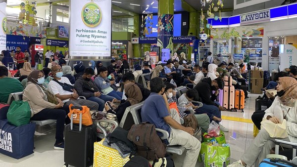
[[31,109],[27,101],[12,101],[8,112],[7,120],[15,126],[26,125],[30,122]]

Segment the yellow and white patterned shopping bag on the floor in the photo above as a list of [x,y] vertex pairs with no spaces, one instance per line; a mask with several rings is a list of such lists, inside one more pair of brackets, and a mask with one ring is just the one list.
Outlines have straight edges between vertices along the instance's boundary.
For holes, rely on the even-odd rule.
[[122,158],[117,150],[103,146],[103,141],[94,143],[93,167],[123,167],[130,160],[129,156]]

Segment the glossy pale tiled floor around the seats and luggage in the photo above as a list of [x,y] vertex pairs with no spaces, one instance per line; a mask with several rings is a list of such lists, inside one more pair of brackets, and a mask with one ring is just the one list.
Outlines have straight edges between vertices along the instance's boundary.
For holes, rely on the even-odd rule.
[[[244,113],[222,112],[223,116],[237,117],[250,119],[254,112],[255,98],[258,94],[249,94],[246,99]],[[229,132],[225,132],[226,141],[230,143],[231,148],[231,163],[239,160],[245,150],[253,140],[253,125],[250,123],[235,122],[223,120],[222,125],[229,128]],[[39,126],[35,132],[35,147],[34,154],[31,154],[22,159],[16,160],[0,154],[0,167],[62,167],[64,164],[64,151],[53,150],[54,144],[54,124]],[[181,167],[184,157],[173,155],[173,160],[176,167]],[[196,167],[203,167],[203,164],[197,163]]]

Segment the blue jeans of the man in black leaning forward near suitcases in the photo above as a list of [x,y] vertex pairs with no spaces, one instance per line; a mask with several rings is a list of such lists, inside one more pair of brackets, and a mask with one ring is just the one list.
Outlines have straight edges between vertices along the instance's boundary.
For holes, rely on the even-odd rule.
[[[215,101],[215,103],[219,104],[216,101]],[[203,106],[196,109],[196,111],[198,111],[198,112],[196,112],[196,114],[197,113],[199,113],[199,114],[206,113],[210,119],[210,122],[212,122],[213,116],[216,116],[217,118],[221,118],[221,111],[219,110],[219,108],[217,106],[214,106],[214,105],[208,105],[208,104],[203,103]],[[215,122],[219,124],[219,121],[215,121]]]

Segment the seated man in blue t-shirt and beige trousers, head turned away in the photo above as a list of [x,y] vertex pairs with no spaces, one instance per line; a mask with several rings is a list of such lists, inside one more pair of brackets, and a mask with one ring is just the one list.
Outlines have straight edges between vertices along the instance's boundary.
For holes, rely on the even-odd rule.
[[159,77],[150,80],[151,93],[141,110],[142,121],[150,122],[156,128],[168,131],[169,137],[166,139],[168,145],[181,145],[188,150],[183,167],[195,167],[201,144],[193,136],[194,129],[192,127],[180,125],[180,118],[177,111],[175,109],[168,111],[166,107],[168,104],[165,103],[163,97],[166,96],[164,93],[165,87],[162,79]]

